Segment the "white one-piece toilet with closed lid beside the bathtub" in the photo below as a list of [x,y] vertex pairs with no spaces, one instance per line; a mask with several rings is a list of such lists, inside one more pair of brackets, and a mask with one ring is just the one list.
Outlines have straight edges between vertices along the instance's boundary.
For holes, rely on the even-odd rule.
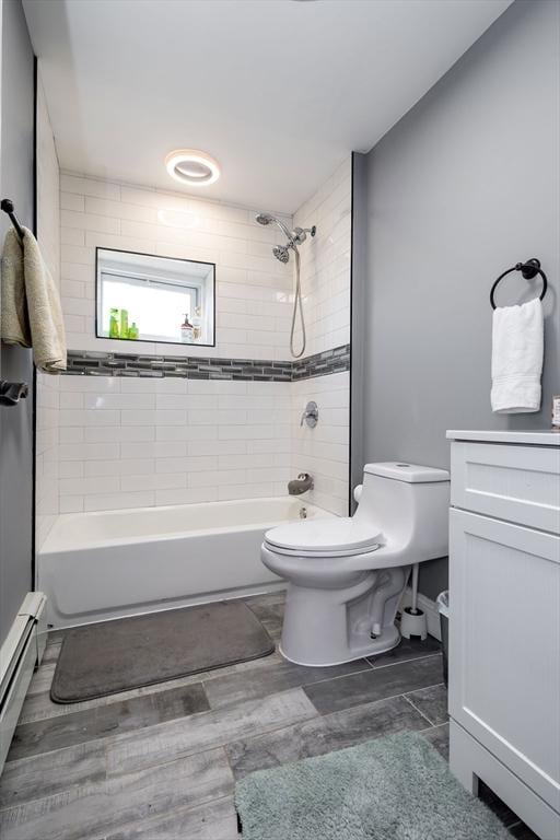
[[395,615],[410,567],[447,553],[450,474],[416,464],[366,464],[357,513],[265,535],[265,565],[288,581],[287,660],[326,666],[398,644]]

